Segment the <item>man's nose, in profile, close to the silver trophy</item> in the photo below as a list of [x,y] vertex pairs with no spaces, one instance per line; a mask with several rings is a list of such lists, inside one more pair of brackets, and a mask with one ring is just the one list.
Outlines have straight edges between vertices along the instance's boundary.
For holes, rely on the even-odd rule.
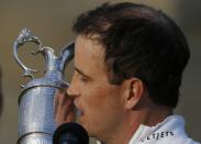
[[69,87],[67,88],[67,95],[71,98],[75,98],[77,96],[79,96],[79,84],[78,81],[76,80],[76,76],[74,75],[72,76],[72,79],[70,81],[70,85]]

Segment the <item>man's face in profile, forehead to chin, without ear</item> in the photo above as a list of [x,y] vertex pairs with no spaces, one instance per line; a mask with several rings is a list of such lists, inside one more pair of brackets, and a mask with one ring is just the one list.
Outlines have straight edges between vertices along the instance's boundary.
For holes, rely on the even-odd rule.
[[122,122],[123,85],[109,84],[103,47],[79,35],[75,45],[75,73],[67,90],[75,98],[78,120],[90,136],[109,136]]

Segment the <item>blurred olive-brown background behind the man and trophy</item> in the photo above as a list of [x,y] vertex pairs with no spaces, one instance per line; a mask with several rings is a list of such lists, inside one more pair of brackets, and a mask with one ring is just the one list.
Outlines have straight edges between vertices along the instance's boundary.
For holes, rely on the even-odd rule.
[[[109,0],[112,3],[124,0]],[[180,102],[176,113],[186,118],[189,135],[201,141],[201,1],[200,0],[130,0],[145,3],[163,10],[181,27],[188,38],[191,59],[186,68],[180,89]],[[3,112],[0,119],[0,143],[14,144],[18,140],[18,97],[22,89],[20,84],[27,82],[22,78],[22,69],[13,58],[13,42],[19,32],[27,26],[37,35],[43,45],[60,48],[75,38],[71,25],[76,16],[89,9],[105,2],[105,0],[0,0],[0,66],[2,69]],[[26,44],[19,48],[23,62],[38,69],[36,77],[43,77],[44,58],[32,56],[34,45]],[[71,64],[66,68],[66,80],[71,77]],[[93,142],[91,142],[92,144]]]

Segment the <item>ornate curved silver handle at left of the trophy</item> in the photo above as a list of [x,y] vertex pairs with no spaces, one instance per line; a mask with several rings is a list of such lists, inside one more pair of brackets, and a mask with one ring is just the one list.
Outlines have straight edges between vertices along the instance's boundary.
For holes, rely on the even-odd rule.
[[34,78],[33,74],[36,73],[37,70],[26,67],[22,63],[22,60],[19,58],[19,55],[18,55],[18,48],[20,46],[22,46],[25,42],[34,42],[35,44],[37,44],[38,48],[37,48],[36,52],[32,52],[33,55],[36,55],[36,54],[42,52],[42,49],[43,49],[42,48],[42,43],[41,43],[41,41],[38,40],[37,36],[32,35],[31,31],[27,27],[24,27],[21,31],[21,33],[19,34],[19,36],[15,40],[14,45],[13,45],[14,58],[18,62],[18,64],[20,65],[20,67],[24,70],[23,77]]

